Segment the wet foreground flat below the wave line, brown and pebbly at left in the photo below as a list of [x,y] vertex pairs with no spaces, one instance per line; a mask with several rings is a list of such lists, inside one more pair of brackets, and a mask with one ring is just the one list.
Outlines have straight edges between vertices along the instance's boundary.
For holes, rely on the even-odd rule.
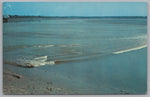
[[[83,62],[72,62],[72,63],[70,62],[70,63],[62,63],[61,65],[43,66],[43,67],[37,67],[31,69],[25,69],[25,68],[20,68],[20,67],[15,67],[15,66],[5,64],[3,67],[4,72],[9,71],[11,73],[19,74],[22,75],[23,78],[18,79],[12,77],[11,75],[4,74],[3,91],[4,94],[10,94],[10,95],[13,94],[27,94],[27,95],[137,94],[137,93],[145,94],[146,93],[145,90],[146,88],[144,88],[145,85],[143,85],[144,90],[141,90],[141,88],[137,88],[137,90],[135,91],[134,87],[141,87],[140,84],[138,83],[146,84],[144,80],[145,78],[143,78],[144,76],[146,76],[145,75],[146,74],[145,69],[147,67],[146,64],[147,62],[145,63],[145,60],[147,60],[145,59],[147,57],[145,55],[146,52],[147,52],[147,48],[143,48],[143,49],[138,49],[136,51],[108,56],[105,58],[101,58],[99,60],[94,60],[94,59],[88,60],[86,62],[87,64],[83,64]],[[141,53],[143,54],[141,55]],[[114,61],[114,59],[117,60]],[[131,63],[127,62],[128,65],[127,64],[124,65],[124,63],[122,63],[122,62],[126,62],[126,60],[129,59],[131,63],[134,62],[136,64],[130,65]],[[118,67],[120,62],[122,63],[122,66]],[[143,66],[141,68],[140,63],[143,62],[145,65],[144,68]],[[109,73],[107,73],[108,67],[112,68],[112,70],[114,69],[115,71],[109,71]],[[122,68],[124,68],[124,70],[120,70]],[[74,71],[75,69],[76,72]],[[89,74],[87,70],[88,71],[90,70]],[[138,70],[138,72],[133,74],[132,73],[128,74],[128,72],[125,72],[125,70],[128,70],[128,72]],[[145,73],[142,72],[143,70]],[[114,73],[111,74],[111,72]],[[122,74],[122,75],[119,76],[118,74]],[[100,79],[97,78],[98,76],[99,77],[101,76],[101,78]],[[139,80],[141,78],[143,79],[137,81],[135,84],[135,82],[132,83],[132,81],[135,79],[132,76],[136,77],[136,79]],[[90,79],[87,80],[88,77]],[[127,82],[123,81],[124,78],[126,78]],[[117,82],[119,79],[122,81]],[[115,82],[114,85],[111,85],[112,82],[109,82],[109,80],[111,80],[113,83]],[[95,84],[96,82],[97,84]],[[129,85],[130,89],[128,89],[125,86],[126,84],[130,84]]]

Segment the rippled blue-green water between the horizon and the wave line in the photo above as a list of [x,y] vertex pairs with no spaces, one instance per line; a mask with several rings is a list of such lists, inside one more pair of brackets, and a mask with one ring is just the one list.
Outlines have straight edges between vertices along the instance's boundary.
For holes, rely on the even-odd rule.
[[16,21],[3,26],[4,60],[20,64],[37,57],[39,61],[92,59],[146,45],[147,39],[145,18]]

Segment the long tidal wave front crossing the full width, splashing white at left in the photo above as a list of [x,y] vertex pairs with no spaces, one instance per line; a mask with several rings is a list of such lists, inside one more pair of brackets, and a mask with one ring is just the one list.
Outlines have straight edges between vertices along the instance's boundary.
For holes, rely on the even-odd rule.
[[[70,57],[63,57],[62,60],[54,60],[54,61],[49,61],[50,59],[48,59],[48,56],[40,56],[40,57],[33,58],[31,60],[20,59],[20,62],[4,61],[4,64],[14,65],[14,66],[22,67],[22,68],[34,68],[34,67],[39,67],[39,66],[44,66],[44,65],[59,65],[61,63],[65,63],[65,62],[85,61],[85,60],[95,59],[95,58],[99,58],[99,57],[110,56],[110,55],[114,55],[114,54],[126,53],[126,52],[130,52],[130,51],[139,50],[139,49],[142,49],[145,47],[147,47],[147,45],[142,45],[139,47],[116,51],[116,52],[112,52],[112,53],[105,53],[105,54],[89,53],[89,54],[85,54],[85,55],[75,55],[75,56],[70,56]],[[63,60],[64,58],[72,58],[72,59]]]

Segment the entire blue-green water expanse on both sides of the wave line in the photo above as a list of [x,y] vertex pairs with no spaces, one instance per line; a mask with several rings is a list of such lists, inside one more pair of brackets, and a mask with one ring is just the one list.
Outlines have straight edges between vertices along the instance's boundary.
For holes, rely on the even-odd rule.
[[75,88],[89,86],[94,92],[87,94],[145,93],[147,51],[136,48],[146,44],[146,18],[16,18],[3,24],[4,62],[47,69],[55,65],[49,62],[66,61],[50,71],[80,80],[85,86]]

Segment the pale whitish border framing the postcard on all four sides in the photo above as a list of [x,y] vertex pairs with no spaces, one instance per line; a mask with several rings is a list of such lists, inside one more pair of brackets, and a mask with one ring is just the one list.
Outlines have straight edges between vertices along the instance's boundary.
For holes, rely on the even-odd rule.
[[[147,88],[147,94],[144,95],[3,95],[3,83],[2,83],[2,3],[3,2],[147,2],[148,8],[148,15],[147,15],[147,36],[148,36],[148,57],[147,57],[147,67],[148,67],[148,72],[147,72],[147,77],[148,77],[148,88]],[[43,96],[51,96],[51,97],[70,97],[70,96],[82,96],[82,97],[94,97],[94,96],[100,96],[100,97],[150,97],[150,0],[0,0],[0,97],[25,97],[25,96],[32,96],[32,97],[43,97]]]

